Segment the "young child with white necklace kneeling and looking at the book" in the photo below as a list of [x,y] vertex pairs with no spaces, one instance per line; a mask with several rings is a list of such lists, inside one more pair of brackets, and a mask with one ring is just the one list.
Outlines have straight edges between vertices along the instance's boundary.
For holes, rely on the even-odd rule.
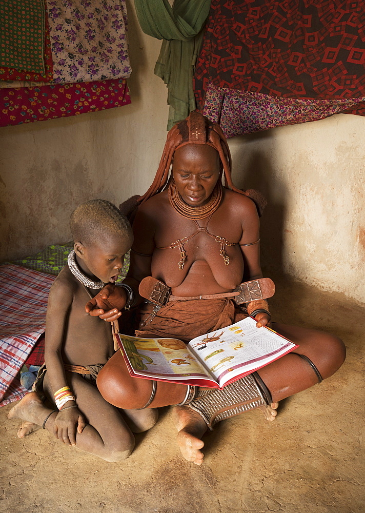
[[70,227],[74,250],[48,299],[45,365],[35,391],[8,417],[24,421],[19,438],[42,426],[66,445],[116,462],[132,452],[132,431],[154,425],[157,410],[118,410],[103,399],[96,376],[114,353],[111,324],[86,313],[85,304],[106,283],[116,281],[133,233],[125,216],[104,200],[79,205]]

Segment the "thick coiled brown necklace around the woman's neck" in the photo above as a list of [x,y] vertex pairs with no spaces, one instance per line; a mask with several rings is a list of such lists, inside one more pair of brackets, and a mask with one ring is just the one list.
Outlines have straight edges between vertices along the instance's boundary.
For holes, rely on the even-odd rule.
[[217,210],[222,199],[222,184],[218,181],[215,184],[213,192],[210,196],[208,203],[201,207],[191,207],[184,203],[179,191],[177,190],[175,180],[172,180],[169,185],[169,202],[171,206],[183,218],[186,219],[205,219]]

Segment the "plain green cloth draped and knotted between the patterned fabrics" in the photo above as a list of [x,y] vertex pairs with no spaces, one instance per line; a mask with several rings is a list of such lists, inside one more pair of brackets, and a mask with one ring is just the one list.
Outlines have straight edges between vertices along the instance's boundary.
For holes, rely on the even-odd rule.
[[193,90],[195,63],[200,52],[211,0],[134,0],[141,29],[162,39],[154,69],[168,88],[167,129],[196,109]]

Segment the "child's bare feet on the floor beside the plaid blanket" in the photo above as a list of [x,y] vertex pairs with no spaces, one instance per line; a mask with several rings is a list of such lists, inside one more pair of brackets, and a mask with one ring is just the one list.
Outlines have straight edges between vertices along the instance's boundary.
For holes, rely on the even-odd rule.
[[17,418],[23,421],[21,428],[18,430],[18,438],[24,438],[39,429],[51,411],[42,403],[36,392],[29,392],[11,408],[8,419]]

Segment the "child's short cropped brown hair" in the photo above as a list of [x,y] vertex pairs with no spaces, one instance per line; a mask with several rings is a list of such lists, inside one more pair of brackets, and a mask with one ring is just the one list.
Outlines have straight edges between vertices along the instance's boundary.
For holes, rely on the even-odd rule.
[[123,239],[132,237],[126,216],[106,200],[90,200],[76,207],[70,217],[70,228],[73,241],[86,246],[110,233]]

